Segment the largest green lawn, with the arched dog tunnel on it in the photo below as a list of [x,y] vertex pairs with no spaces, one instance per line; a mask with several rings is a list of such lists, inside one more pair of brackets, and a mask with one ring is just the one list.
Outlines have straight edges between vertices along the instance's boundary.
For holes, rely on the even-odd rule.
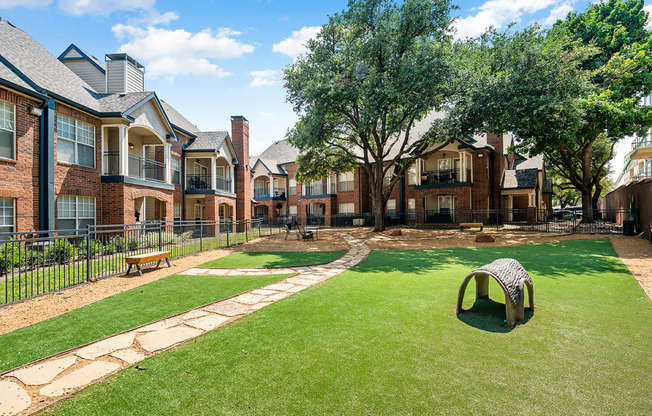
[[[536,311],[503,326],[495,282],[531,273]],[[473,304],[473,285],[465,307]],[[78,393],[57,415],[649,414],[652,302],[607,240],[375,251],[361,265]]]

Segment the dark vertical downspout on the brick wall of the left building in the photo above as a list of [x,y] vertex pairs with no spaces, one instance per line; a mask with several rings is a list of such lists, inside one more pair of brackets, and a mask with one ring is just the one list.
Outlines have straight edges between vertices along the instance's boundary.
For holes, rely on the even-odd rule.
[[54,230],[54,99],[43,103],[40,120],[39,228]]

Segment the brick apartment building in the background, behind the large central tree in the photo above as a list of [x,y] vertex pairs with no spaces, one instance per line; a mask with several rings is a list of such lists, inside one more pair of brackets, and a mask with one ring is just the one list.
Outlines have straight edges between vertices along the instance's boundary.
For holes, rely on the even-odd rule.
[[[425,134],[437,116],[433,113],[417,123],[412,140]],[[510,153],[513,144],[511,134],[481,134],[442,148],[437,144],[423,149],[427,156],[417,159],[394,187],[387,215],[449,223],[457,222],[459,212],[506,210],[507,220],[536,219],[551,208],[551,181],[545,177],[543,157]],[[302,184],[295,177],[298,155],[298,149],[281,140],[252,157],[255,217],[292,217],[304,222],[321,218],[330,225],[333,216],[372,212],[363,168]],[[394,156],[390,151],[387,159]],[[390,179],[386,178],[387,182]]]

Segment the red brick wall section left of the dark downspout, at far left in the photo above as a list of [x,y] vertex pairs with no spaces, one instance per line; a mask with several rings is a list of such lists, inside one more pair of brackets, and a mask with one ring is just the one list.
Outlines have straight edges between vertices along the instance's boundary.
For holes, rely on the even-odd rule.
[[3,88],[0,88],[0,100],[16,106],[16,160],[0,159],[0,197],[16,200],[16,231],[37,230],[40,120],[29,113],[29,106],[41,103]]

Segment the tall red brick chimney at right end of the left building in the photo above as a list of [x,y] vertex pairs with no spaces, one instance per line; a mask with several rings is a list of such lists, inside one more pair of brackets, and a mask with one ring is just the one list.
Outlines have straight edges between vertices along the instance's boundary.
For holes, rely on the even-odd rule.
[[236,180],[236,219],[251,219],[251,166],[249,166],[249,121],[243,116],[231,116],[231,140],[238,166]]

